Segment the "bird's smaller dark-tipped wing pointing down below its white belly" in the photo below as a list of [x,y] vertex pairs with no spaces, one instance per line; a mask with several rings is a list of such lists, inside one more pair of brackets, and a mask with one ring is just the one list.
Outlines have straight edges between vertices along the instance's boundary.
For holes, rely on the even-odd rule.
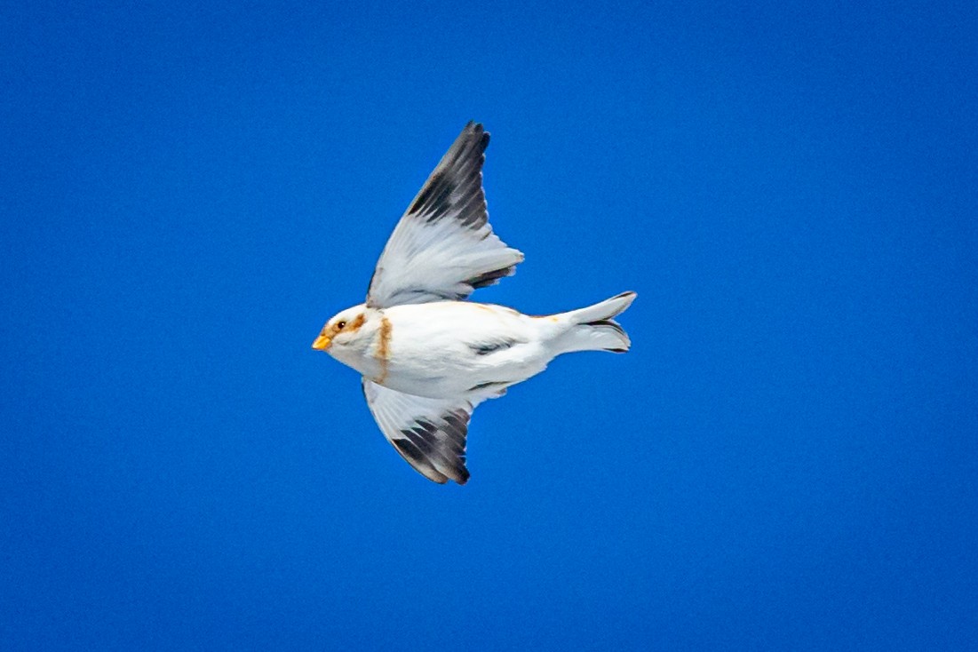
[[367,378],[363,389],[380,432],[415,470],[438,484],[466,484],[466,435],[474,405],[404,394]]

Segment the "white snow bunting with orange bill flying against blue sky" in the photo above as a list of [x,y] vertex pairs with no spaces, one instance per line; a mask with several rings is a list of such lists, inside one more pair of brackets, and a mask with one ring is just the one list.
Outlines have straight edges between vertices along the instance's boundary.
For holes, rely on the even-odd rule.
[[488,144],[482,125],[469,122],[387,240],[366,303],[333,317],[312,345],[363,374],[383,436],[440,484],[468,480],[468,419],[479,403],[561,353],[623,353],[630,345],[611,318],[635,292],[544,317],[465,300],[523,260],[489,226],[482,190]]

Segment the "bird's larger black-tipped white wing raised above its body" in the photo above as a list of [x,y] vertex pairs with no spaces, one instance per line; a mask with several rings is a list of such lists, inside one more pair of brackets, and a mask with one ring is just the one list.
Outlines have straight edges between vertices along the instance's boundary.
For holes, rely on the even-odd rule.
[[469,122],[442,156],[380,254],[367,305],[460,300],[515,272],[523,254],[489,226],[482,163],[489,134]]

